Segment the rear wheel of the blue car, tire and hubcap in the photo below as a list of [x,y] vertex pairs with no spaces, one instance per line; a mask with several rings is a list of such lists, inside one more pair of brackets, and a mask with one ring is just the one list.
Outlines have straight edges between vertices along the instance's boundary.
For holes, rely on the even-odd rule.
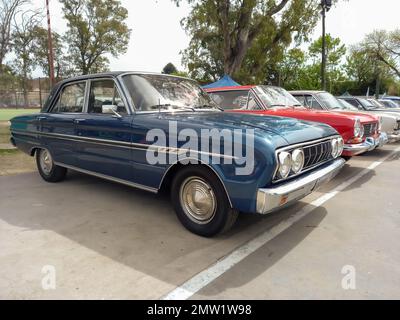
[[36,151],[36,165],[40,176],[47,182],[62,181],[67,173],[67,169],[54,164],[53,157],[47,149]]

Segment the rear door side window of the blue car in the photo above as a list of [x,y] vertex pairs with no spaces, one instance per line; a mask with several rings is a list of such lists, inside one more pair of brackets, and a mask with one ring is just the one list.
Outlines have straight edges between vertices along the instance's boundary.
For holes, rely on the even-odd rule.
[[85,103],[86,83],[80,82],[64,87],[58,98],[57,104],[52,109],[53,113],[79,113],[83,111]]

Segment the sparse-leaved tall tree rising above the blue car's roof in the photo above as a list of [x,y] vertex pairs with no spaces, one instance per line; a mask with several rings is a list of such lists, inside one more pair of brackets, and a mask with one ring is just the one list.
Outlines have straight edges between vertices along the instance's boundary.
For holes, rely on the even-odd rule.
[[82,74],[107,68],[110,54],[128,49],[128,11],[119,0],[60,0],[67,20],[65,41],[70,60]]

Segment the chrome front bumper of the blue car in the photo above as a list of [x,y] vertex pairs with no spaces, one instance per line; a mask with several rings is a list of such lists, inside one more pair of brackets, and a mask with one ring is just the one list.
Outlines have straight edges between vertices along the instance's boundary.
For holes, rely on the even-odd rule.
[[259,189],[257,194],[257,213],[271,213],[304,198],[324,183],[333,179],[344,164],[345,161],[343,159],[337,159],[322,169],[313,171],[279,187]]

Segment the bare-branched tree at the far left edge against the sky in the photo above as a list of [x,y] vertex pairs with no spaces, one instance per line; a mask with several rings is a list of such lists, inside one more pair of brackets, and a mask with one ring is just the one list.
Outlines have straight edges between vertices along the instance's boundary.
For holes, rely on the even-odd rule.
[[15,15],[29,0],[0,0],[0,74],[4,58],[10,52],[12,26]]

